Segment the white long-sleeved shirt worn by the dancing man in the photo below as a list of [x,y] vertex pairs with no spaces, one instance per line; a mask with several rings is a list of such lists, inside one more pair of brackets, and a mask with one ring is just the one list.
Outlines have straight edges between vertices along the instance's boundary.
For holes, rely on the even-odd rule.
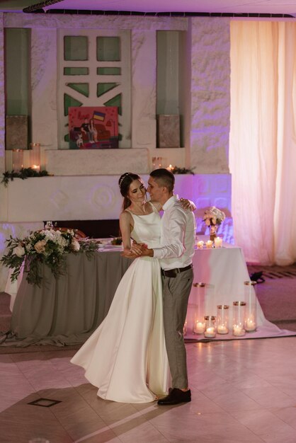
[[195,243],[195,217],[192,211],[184,209],[173,195],[166,201],[161,218],[160,248],[153,248],[154,257],[161,260],[164,270],[186,267],[192,263]]

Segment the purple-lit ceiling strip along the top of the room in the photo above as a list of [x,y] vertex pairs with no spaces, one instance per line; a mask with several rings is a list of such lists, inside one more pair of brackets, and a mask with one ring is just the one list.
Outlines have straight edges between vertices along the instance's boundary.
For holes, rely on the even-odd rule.
[[[49,9],[195,12],[195,13],[259,13],[296,16],[295,0],[0,0],[0,11],[23,12],[34,6]],[[33,12],[33,8],[30,8]]]

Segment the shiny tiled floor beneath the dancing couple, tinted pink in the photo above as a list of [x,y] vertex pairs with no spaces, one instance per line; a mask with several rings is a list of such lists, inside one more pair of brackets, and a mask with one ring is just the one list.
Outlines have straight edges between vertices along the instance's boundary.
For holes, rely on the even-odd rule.
[[174,407],[101,400],[73,350],[0,355],[0,442],[296,443],[295,337],[186,347],[193,400]]

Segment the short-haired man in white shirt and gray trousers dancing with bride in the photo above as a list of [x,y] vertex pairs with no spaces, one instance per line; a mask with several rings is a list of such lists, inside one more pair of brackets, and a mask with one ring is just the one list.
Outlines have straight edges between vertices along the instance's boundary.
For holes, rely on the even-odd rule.
[[193,283],[195,217],[189,209],[183,209],[178,195],[173,195],[174,184],[175,177],[167,169],[156,169],[150,174],[147,191],[151,200],[160,202],[164,210],[161,247],[142,248],[141,252],[141,255],[160,259],[164,277],[164,335],[173,389],[158,401],[159,405],[191,401],[183,326]]

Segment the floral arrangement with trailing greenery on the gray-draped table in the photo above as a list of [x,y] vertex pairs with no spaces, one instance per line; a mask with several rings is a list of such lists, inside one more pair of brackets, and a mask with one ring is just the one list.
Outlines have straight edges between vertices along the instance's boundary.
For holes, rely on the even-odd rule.
[[11,282],[15,282],[23,267],[26,280],[30,284],[40,287],[42,280],[41,265],[50,267],[55,278],[63,275],[66,270],[67,253],[86,253],[91,258],[97,250],[94,241],[79,241],[74,229],[43,229],[32,231],[30,235],[21,239],[10,236],[7,241],[8,253],[0,262],[13,269]]

